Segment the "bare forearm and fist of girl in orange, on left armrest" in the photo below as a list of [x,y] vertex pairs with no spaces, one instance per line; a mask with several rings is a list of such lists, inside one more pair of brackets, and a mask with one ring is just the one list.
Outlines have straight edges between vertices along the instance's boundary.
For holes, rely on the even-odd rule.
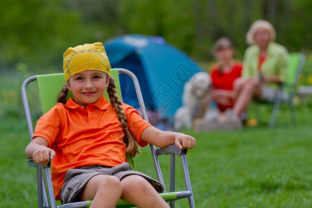
[[48,147],[49,143],[42,137],[35,137],[25,149],[25,155],[33,158],[37,164],[46,166],[55,157],[55,152]]

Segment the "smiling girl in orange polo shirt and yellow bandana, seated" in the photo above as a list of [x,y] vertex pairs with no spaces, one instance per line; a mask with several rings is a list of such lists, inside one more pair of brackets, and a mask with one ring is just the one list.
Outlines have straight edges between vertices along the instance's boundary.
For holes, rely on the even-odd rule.
[[[132,171],[125,155],[139,153],[137,144],[182,149],[193,148],[196,140],[158,130],[121,103],[103,44],[67,49],[63,69],[67,84],[58,96],[60,103],[37,122],[25,151],[37,164],[46,166],[53,159],[55,198],[65,203],[93,200],[91,207],[116,207],[119,198],[137,207],[168,207],[157,193],[162,185]],[[110,103],[103,96],[105,88]],[[68,90],[76,99],[66,101]]]

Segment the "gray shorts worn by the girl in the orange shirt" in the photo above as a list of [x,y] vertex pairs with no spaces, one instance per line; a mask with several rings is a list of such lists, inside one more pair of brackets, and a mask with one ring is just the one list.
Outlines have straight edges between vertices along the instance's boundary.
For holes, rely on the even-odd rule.
[[78,201],[79,192],[85,187],[87,182],[95,175],[114,175],[123,180],[128,175],[140,175],[144,177],[158,193],[164,192],[164,187],[157,180],[148,175],[132,171],[130,164],[123,162],[119,166],[83,166],[81,168],[69,169],[65,175],[64,184],[60,192],[60,198],[64,203]]

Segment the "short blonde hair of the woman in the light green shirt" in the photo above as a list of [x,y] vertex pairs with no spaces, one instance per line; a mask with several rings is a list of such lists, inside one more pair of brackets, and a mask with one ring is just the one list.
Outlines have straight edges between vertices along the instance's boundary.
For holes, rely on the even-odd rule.
[[275,41],[276,33],[275,29],[270,24],[270,22],[264,20],[264,19],[259,19],[257,21],[254,21],[254,23],[250,26],[249,31],[246,34],[246,42],[248,44],[255,44],[256,42],[254,41],[254,34],[257,32],[259,28],[264,28],[270,33],[270,41]]

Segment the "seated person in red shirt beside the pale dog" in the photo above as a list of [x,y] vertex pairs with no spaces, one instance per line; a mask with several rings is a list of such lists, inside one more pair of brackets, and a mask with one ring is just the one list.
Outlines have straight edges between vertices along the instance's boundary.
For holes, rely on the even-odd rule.
[[234,60],[234,46],[227,37],[222,37],[214,44],[214,55],[218,63],[211,67],[212,98],[220,110],[220,120],[226,117],[225,111],[232,109],[236,98],[233,90],[234,81],[241,77],[242,63]]

